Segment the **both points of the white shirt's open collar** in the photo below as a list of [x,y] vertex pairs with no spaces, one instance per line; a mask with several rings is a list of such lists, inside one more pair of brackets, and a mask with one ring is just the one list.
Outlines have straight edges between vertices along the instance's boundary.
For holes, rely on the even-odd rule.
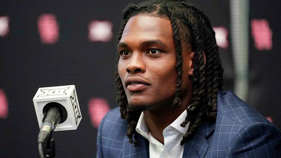
[[[179,115],[179,117],[174,122],[172,122],[169,126],[172,126],[173,128],[175,128],[176,130],[178,130],[182,134],[185,134],[187,132],[187,130],[188,130],[189,122],[186,124],[185,127],[181,127],[180,124],[185,120],[186,116],[187,116],[187,113],[186,113],[186,110],[184,110],[184,112],[182,112]],[[149,136],[148,136],[149,129],[148,129],[148,126],[147,126],[147,124],[145,122],[143,112],[141,112],[140,118],[138,119],[138,123],[137,123],[137,126],[136,126],[136,131],[140,135],[142,135],[144,138],[146,138],[146,139],[149,138]]]

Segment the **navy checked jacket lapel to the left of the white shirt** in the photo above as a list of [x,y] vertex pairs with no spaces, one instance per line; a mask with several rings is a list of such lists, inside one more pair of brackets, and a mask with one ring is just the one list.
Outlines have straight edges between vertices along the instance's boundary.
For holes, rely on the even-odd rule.
[[138,136],[138,146],[129,142],[127,136],[124,137],[123,150],[121,151],[123,158],[149,158],[149,142],[143,136]]

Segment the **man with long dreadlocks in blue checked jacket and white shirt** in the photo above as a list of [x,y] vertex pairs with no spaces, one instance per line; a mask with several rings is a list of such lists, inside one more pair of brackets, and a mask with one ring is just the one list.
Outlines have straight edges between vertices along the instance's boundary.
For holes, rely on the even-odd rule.
[[[232,92],[208,17],[181,1],[123,11],[97,157],[280,157],[280,131]],[[134,144],[134,145],[133,145]]]

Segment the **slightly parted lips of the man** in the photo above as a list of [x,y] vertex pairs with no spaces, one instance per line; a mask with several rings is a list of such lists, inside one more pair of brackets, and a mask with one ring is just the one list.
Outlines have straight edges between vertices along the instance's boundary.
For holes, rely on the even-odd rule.
[[128,77],[125,80],[125,85],[129,91],[135,92],[143,90],[145,87],[148,87],[150,84],[148,81],[139,78],[139,77]]

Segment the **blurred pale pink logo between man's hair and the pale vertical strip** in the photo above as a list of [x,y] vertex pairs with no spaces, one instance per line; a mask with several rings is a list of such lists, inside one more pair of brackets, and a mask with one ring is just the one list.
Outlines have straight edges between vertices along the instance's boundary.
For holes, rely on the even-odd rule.
[[225,27],[220,26],[220,27],[213,27],[215,34],[216,34],[216,41],[217,41],[217,46],[220,48],[226,49],[228,47],[228,40],[227,40],[227,35],[228,31]]

